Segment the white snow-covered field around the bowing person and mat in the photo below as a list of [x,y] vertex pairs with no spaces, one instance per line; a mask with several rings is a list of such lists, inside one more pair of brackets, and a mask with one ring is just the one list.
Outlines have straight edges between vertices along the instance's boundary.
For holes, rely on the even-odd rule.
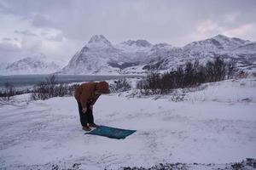
[[179,102],[172,95],[132,93],[102,95],[94,108],[97,124],[137,130],[126,139],[84,134],[73,97],[1,105],[0,169],[220,165],[256,158],[256,78],[208,83]]

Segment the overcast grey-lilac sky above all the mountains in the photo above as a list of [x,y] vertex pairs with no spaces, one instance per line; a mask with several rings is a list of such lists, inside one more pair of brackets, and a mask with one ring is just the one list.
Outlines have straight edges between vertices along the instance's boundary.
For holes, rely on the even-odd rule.
[[256,41],[256,0],[0,0],[0,59],[67,62],[93,35],[183,46],[224,34]]

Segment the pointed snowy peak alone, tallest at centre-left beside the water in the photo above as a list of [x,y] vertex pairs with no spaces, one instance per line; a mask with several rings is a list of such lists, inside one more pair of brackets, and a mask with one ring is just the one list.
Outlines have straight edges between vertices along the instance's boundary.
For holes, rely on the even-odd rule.
[[102,35],[96,35],[73,56],[61,73],[96,74],[99,71],[117,71],[111,68],[108,62],[117,61],[119,58],[123,58],[119,49],[114,48]]

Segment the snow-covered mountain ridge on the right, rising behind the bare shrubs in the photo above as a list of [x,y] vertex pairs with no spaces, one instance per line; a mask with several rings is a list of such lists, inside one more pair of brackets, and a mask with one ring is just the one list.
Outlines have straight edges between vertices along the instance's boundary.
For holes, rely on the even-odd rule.
[[166,57],[151,62],[144,68],[169,70],[187,61],[199,59],[201,63],[214,57],[232,59],[245,70],[256,70],[256,42],[236,37],[218,35],[198,42],[191,42],[183,48],[171,49]]

